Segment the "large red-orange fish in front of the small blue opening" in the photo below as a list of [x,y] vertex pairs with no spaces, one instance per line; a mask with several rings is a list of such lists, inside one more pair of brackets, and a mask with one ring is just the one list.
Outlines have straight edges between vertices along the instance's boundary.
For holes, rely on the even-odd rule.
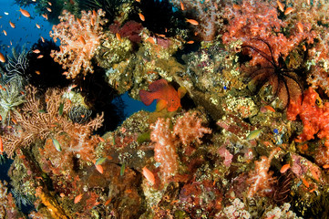
[[[178,110],[180,105],[180,92],[170,86],[165,79],[159,79],[149,85],[149,91],[139,90],[141,101],[149,106],[154,99],[159,99],[159,105],[162,109],[167,108],[168,111]],[[158,106],[157,106],[158,107]]]

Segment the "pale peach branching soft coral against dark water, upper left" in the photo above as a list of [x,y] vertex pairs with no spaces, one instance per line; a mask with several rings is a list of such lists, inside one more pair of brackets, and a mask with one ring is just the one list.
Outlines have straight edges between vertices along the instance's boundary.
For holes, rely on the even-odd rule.
[[67,78],[76,78],[82,70],[82,74],[93,73],[91,58],[95,55],[100,44],[102,25],[107,23],[103,18],[105,12],[81,12],[81,18],[76,18],[64,11],[59,16],[60,23],[53,26],[50,36],[57,41],[60,39],[60,51],[53,50],[51,57],[63,68],[67,69]]

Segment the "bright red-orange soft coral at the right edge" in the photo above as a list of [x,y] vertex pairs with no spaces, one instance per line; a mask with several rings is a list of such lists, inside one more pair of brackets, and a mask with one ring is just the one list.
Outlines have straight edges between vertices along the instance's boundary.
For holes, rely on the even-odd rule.
[[303,133],[297,137],[297,142],[312,140],[316,134],[319,139],[324,139],[324,145],[329,147],[329,102],[322,106],[316,103],[319,100],[321,101],[314,89],[307,89],[303,94],[302,104],[301,99],[291,101],[287,119],[296,120],[299,115],[303,122]]

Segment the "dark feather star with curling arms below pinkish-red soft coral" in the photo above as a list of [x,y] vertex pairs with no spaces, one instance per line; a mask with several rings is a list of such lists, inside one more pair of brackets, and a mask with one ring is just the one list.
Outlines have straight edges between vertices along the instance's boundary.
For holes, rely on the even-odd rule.
[[249,86],[252,92],[256,91],[258,94],[263,92],[265,102],[272,104],[275,101],[275,107],[282,110],[289,106],[290,99],[297,99],[300,96],[303,99],[303,86],[299,80],[302,70],[287,68],[282,56],[278,58],[273,56],[274,51],[268,42],[260,38],[252,38],[252,40],[264,44],[267,50],[248,45],[242,46],[242,53],[244,49],[250,50],[247,52],[255,54],[255,57],[258,56],[260,63],[246,69],[244,82],[253,85],[253,88]]

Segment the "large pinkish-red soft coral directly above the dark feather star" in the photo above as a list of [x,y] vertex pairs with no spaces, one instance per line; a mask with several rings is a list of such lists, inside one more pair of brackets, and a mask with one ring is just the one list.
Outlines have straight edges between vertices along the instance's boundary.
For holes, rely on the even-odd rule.
[[[301,31],[297,23],[289,24],[278,17],[276,5],[261,1],[243,1],[239,6],[226,6],[225,18],[229,20],[227,32],[222,36],[224,44],[241,40],[242,46],[254,47],[251,49],[251,64],[264,64],[268,62],[263,54],[271,54],[274,62],[278,61],[280,56],[287,57],[294,47],[298,46],[303,40],[312,44],[315,37],[314,31],[311,31],[311,25],[301,23]],[[289,36],[283,34],[283,28],[289,26]],[[293,27],[291,27],[293,26]],[[262,41],[267,42],[272,51],[269,50]],[[261,51],[261,52],[260,52]]]

